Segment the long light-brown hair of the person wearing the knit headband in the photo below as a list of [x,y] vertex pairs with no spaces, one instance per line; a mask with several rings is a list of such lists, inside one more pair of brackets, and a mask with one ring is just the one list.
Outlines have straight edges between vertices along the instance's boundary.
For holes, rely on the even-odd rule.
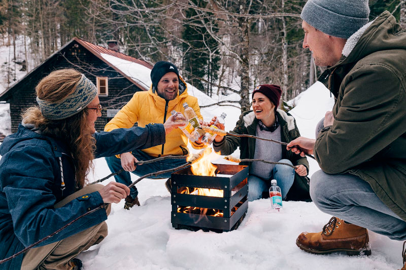
[[[58,102],[75,91],[82,74],[75,69],[60,69],[51,72],[36,87],[37,96],[46,101]],[[92,168],[95,140],[87,125],[87,108],[69,118],[49,120],[38,106],[26,109],[22,118],[25,124],[34,125],[43,135],[67,142],[75,164],[77,185],[82,188]]]

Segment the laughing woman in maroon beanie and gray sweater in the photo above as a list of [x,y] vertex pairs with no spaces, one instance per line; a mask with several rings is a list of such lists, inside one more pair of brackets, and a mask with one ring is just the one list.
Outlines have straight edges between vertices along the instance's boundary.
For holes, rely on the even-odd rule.
[[[277,109],[282,90],[278,85],[259,85],[252,93],[252,110],[243,112],[231,133],[250,134],[276,141],[290,142],[300,136],[296,121],[289,113]],[[213,119],[214,121],[215,119]],[[224,129],[224,126],[219,128]],[[284,200],[310,200],[308,178],[309,163],[305,158],[286,150],[286,146],[247,137],[216,136],[213,147],[221,155],[230,155],[240,147],[241,159],[262,159],[288,163],[272,165],[263,162],[242,163],[249,165],[248,200],[262,198],[268,191],[270,180],[276,179]],[[267,192],[265,193],[267,194]]]

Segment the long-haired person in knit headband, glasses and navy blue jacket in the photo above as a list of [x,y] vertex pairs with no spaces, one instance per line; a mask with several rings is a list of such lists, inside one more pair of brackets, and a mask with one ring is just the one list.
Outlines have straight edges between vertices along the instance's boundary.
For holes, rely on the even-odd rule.
[[0,145],[0,259],[52,234],[52,238],[1,265],[5,269],[80,269],[75,256],[107,236],[110,203],[129,195],[115,181],[86,185],[94,158],[165,142],[179,123],[96,133],[101,116],[97,89],[74,69],[53,71],[36,87],[39,106],[28,108],[18,132]]

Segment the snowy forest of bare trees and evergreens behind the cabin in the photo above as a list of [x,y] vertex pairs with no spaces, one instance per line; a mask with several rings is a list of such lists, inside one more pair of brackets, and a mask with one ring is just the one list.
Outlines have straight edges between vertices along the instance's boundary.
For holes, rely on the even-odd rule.
[[[0,0],[0,46],[14,47],[7,88],[16,69],[29,72],[77,36],[154,64],[175,63],[183,78],[212,96],[233,92],[242,111],[259,84],[278,84],[287,101],[323,71],[302,48],[303,0]],[[406,27],[406,0],[370,0],[370,19],[384,10]],[[16,41],[24,53],[16,56]],[[21,42],[20,42],[21,43]],[[18,64],[18,65],[16,65]],[[221,105],[221,104],[219,104]],[[283,102],[284,106],[288,106]],[[285,109],[289,109],[285,107]]]

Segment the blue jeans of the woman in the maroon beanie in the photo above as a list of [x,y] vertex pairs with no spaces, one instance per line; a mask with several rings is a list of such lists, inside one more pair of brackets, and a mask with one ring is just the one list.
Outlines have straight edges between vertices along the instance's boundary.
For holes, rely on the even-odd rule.
[[[278,162],[292,165],[290,160],[280,160]],[[285,199],[290,187],[295,179],[295,170],[292,167],[277,164],[272,172],[271,179],[276,179],[282,191],[282,198]],[[262,192],[268,191],[270,179],[262,179],[250,174],[248,176],[248,201],[252,202],[262,198]]]

